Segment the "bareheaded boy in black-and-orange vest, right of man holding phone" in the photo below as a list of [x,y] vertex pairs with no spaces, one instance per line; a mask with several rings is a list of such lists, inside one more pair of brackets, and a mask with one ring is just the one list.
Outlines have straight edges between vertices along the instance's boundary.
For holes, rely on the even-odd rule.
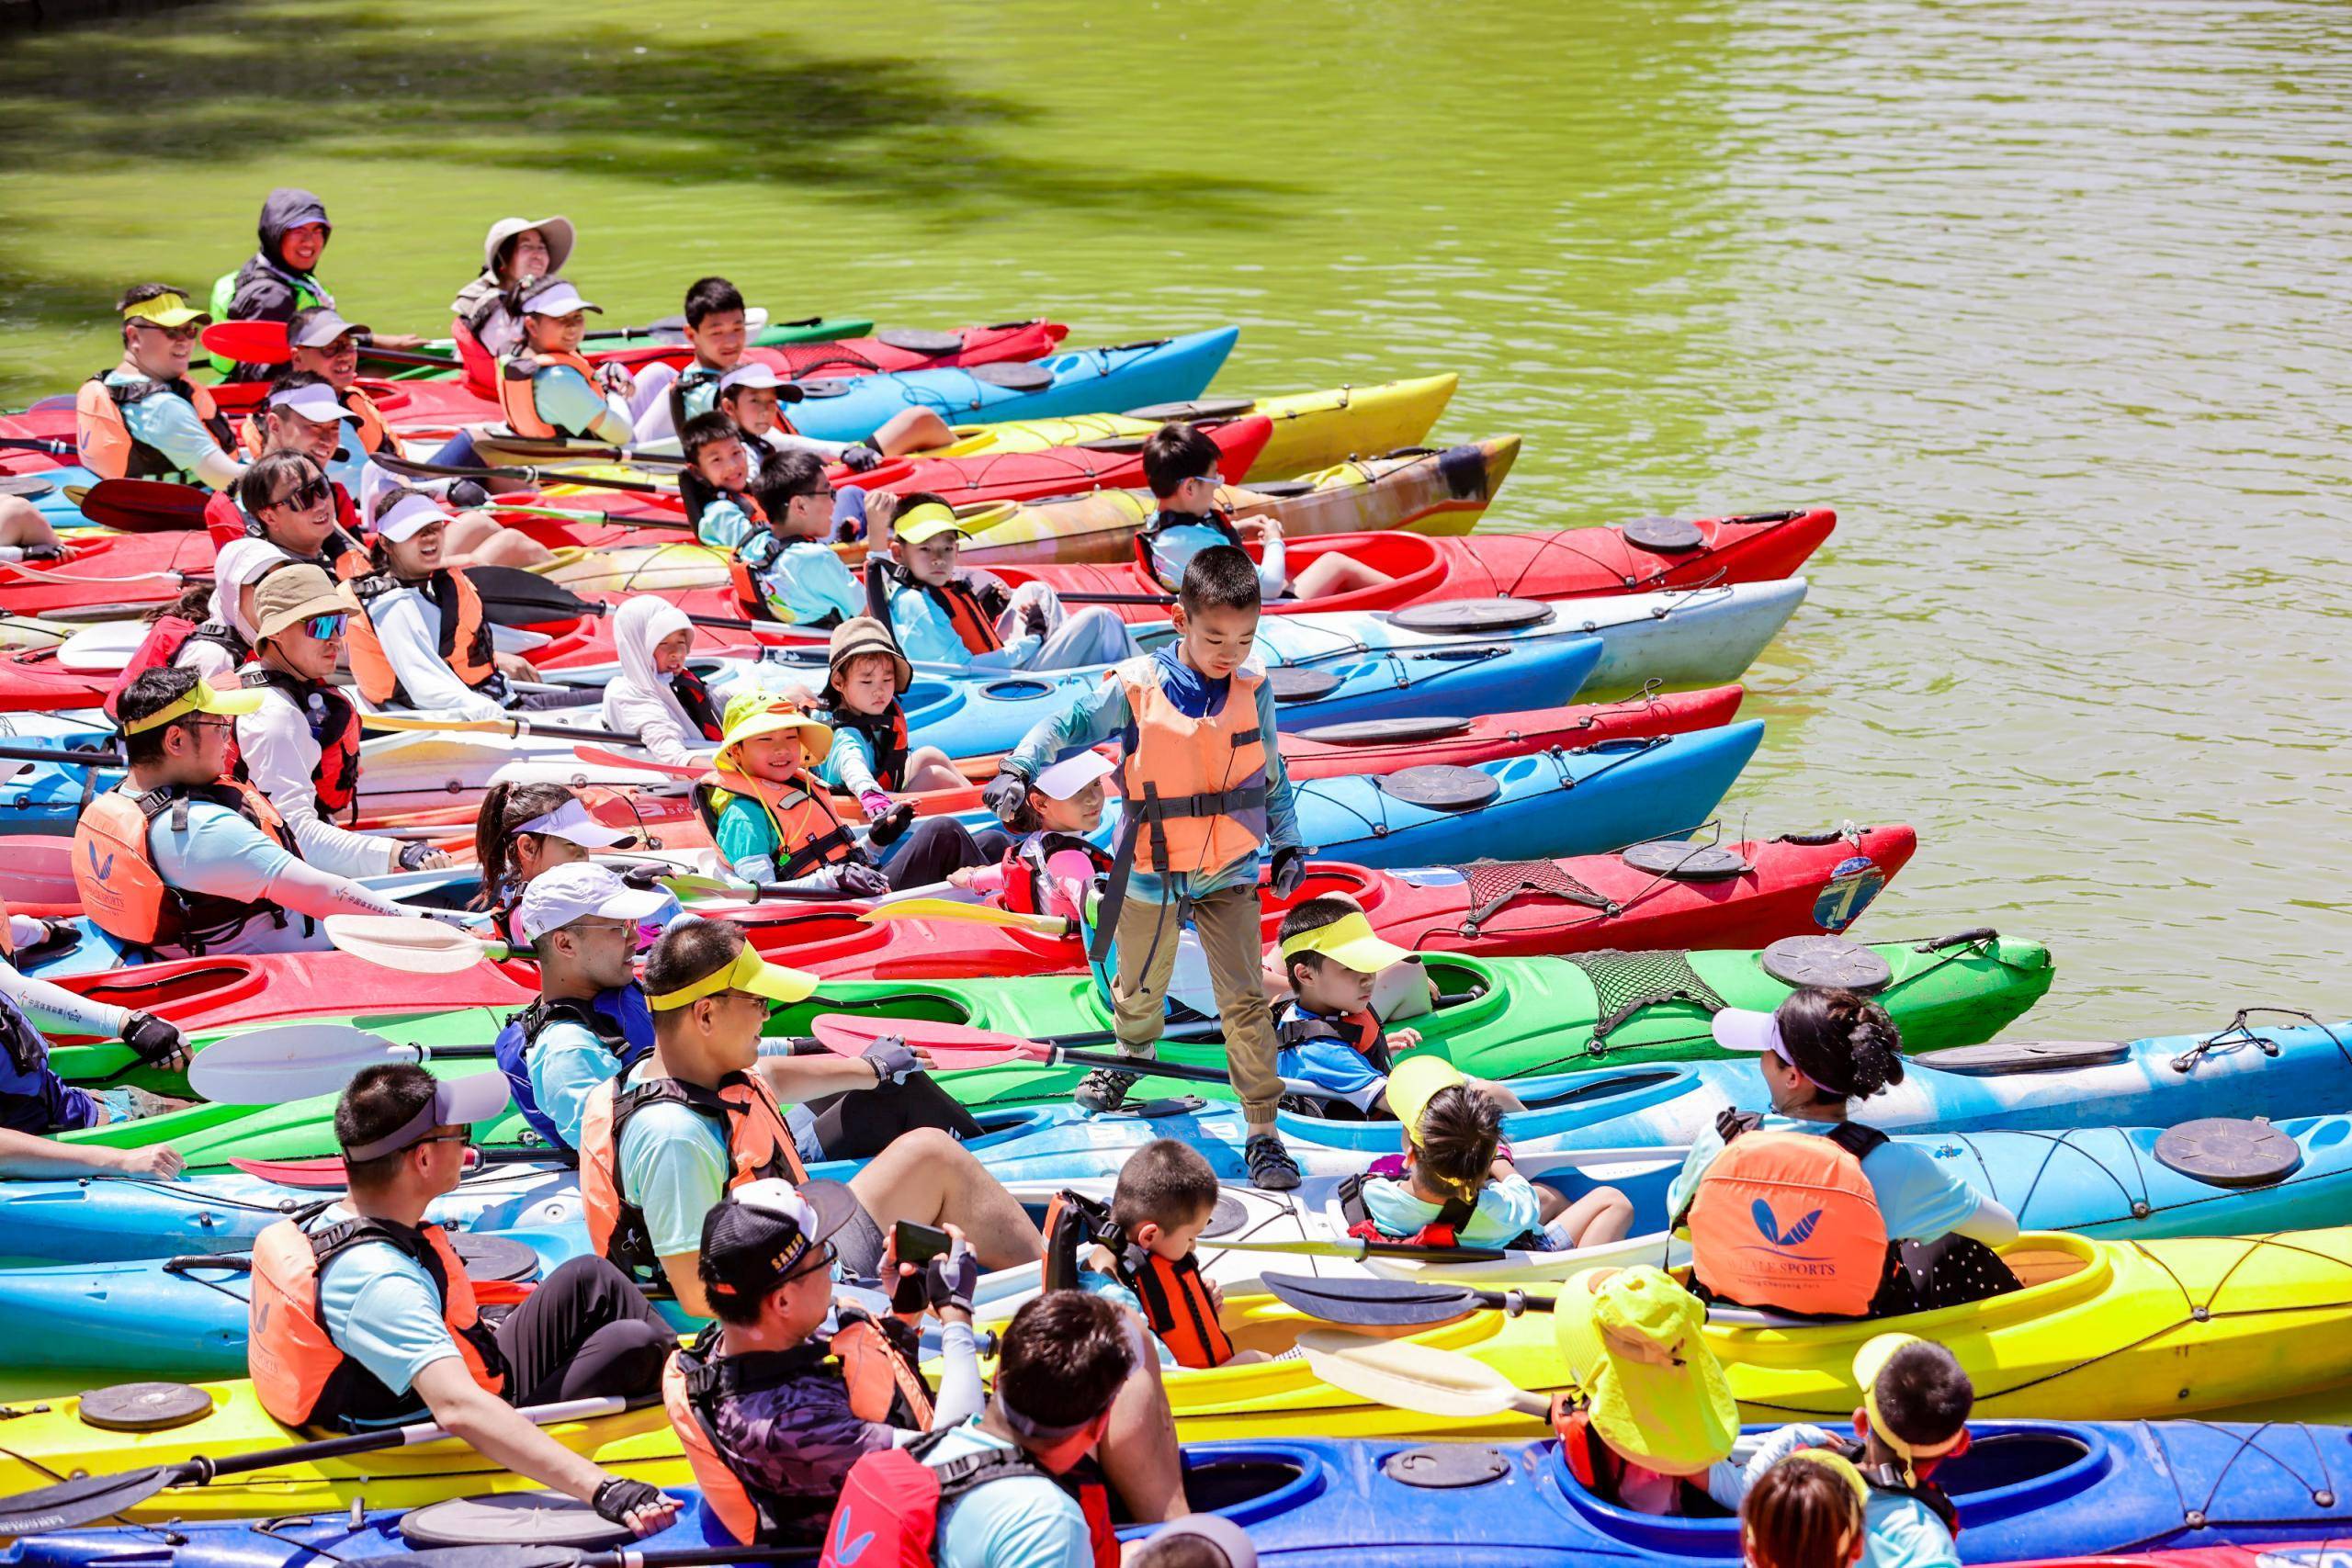
[[[1047,1237],[1047,1288],[1077,1284],[1120,1302],[1152,1331],[1164,1366],[1265,1361],[1263,1349],[1235,1349],[1225,1338],[1218,1324],[1225,1293],[1202,1276],[1192,1258],[1214,1215],[1216,1171],[1209,1161],[1188,1143],[1155,1138],[1120,1166],[1110,1225],[1096,1229],[1089,1246],[1065,1255],[1082,1237]],[[1063,1279],[1068,1262],[1082,1265],[1075,1281]]]

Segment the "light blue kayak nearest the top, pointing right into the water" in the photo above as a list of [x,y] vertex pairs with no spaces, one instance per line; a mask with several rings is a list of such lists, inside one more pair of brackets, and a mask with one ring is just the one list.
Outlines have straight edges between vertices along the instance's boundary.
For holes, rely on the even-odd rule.
[[802,435],[826,442],[863,442],[906,409],[931,409],[950,425],[1117,414],[1200,397],[1240,336],[1240,327],[1216,327],[1152,343],[1077,348],[1028,364],[802,381],[802,402],[786,411]]

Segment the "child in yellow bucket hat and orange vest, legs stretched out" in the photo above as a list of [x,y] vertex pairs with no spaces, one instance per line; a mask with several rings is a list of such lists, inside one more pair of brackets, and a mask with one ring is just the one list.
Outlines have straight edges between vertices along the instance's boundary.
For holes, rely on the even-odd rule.
[[[901,809],[873,827],[851,827],[833,795],[809,769],[833,750],[833,729],[790,698],[736,691],[720,719],[720,750],[710,759],[717,785],[696,790],[696,809],[727,867],[748,882],[875,898],[891,889],[929,886],[988,853],[955,818],[936,816],[915,832]],[[906,835],[903,844],[898,842]],[[896,844],[896,853],[884,853]]]

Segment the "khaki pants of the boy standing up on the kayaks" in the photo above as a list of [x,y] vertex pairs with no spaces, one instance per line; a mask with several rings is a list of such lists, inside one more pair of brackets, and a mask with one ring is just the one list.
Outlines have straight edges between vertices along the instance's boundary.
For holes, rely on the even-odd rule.
[[[1110,1011],[1120,1051],[1150,1056],[1167,1018],[1169,973],[1176,969],[1176,922],[1183,905],[1124,898],[1117,924],[1117,978]],[[1209,961],[1216,1013],[1225,1025],[1225,1072],[1251,1126],[1275,1119],[1282,1079],[1275,1074],[1275,1018],[1258,978],[1265,945],[1258,940],[1258,884],[1228,886],[1192,903],[1192,929]]]

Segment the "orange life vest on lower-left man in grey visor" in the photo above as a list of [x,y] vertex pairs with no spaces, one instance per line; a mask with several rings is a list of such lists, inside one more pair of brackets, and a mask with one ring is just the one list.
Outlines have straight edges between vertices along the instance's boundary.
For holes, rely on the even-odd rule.
[[289,1427],[308,1427],[313,1420],[381,1422],[416,1408],[414,1394],[393,1394],[327,1335],[320,1281],[336,1258],[367,1241],[386,1241],[423,1267],[440,1293],[442,1324],[456,1340],[466,1373],[482,1389],[503,1392],[506,1359],[482,1324],[473,1279],[440,1225],[409,1229],[390,1220],[343,1220],[313,1237],[294,1220],[278,1220],[254,1241],[247,1307],[245,1361],[261,1408]]

